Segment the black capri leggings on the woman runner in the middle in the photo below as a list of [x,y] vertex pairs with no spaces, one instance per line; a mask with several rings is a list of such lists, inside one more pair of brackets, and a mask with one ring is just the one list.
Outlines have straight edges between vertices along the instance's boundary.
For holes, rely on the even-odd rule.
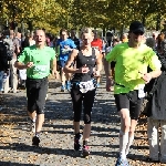
[[91,124],[91,112],[94,103],[95,90],[81,93],[77,86],[72,87],[71,97],[73,102],[74,122],[80,122],[82,113],[84,113],[84,124]]

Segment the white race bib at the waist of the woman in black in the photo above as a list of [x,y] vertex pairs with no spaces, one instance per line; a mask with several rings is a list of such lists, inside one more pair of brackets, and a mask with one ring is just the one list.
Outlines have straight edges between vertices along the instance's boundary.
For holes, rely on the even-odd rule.
[[95,87],[94,87],[94,84],[93,84],[93,81],[81,82],[81,83],[79,84],[79,86],[80,86],[80,91],[81,91],[82,93],[86,93],[87,91],[92,91],[92,90],[95,89]]

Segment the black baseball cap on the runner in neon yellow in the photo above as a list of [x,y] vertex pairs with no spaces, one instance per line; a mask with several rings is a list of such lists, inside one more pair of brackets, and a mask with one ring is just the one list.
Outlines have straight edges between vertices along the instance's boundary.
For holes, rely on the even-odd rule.
[[133,21],[129,25],[129,32],[145,32],[144,25],[139,21]]

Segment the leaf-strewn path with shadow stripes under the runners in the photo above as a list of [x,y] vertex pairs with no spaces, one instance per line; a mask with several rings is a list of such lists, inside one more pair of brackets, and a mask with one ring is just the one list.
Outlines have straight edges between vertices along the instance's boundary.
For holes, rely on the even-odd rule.
[[[4,94],[0,111],[0,166],[114,166],[120,117],[113,93],[106,92],[104,85],[103,81],[96,91],[89,159],[73,151],[72,103],[68,92],[60,92],[59,82],[50,82],[40,147],[31,146],[33,134],[28,127],[25,92]],[[132,166],[152,165],[145,163],[148,154],[145,124],[142,117],[128,156]]]

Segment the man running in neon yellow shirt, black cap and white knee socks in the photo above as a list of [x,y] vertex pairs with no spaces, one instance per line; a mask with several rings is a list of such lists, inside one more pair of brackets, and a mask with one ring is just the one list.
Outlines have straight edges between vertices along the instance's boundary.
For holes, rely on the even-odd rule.
[[[129,25],[129,40],[117,44],[105,58],[106,91],[111,91],[110,64],[115,61],[114,96],[121,115],[120,156],[115,166],[128,165],[126,155],[144,97],[144,85],[160,75],[160,62],[155,52],[143,43],[144,27],[139,21]],[[147,66],[153,71],[147,73]]]

